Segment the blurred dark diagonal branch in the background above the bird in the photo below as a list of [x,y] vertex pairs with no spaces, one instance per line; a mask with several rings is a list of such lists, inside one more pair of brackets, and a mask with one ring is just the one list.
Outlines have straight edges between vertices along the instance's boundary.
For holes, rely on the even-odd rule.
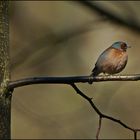
[[92,1],[75,1],[75,2],[78,2],[78,3],[86,6],[88,9],[90,9],[94,13],[97,12],[100,15],[104,15],[104,16],[108,17],[111,21],[118,23],[120,25],[126,26],[126,27],[140,33],[140,25],[134,21],[132,22],[132,19],[124,20],[120,16],[110,12],[109,10],[103,8],[102,6],[95,4]]

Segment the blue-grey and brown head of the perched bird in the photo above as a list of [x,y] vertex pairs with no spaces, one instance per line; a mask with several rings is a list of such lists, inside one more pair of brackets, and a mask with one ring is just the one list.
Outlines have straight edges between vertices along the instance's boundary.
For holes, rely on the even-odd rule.
[[127,48],[130,48],[130,46],[128,46],[125,42],[123,41],[118,41],[112,44],[113,48],[119,49],[121,51],[126,51]]

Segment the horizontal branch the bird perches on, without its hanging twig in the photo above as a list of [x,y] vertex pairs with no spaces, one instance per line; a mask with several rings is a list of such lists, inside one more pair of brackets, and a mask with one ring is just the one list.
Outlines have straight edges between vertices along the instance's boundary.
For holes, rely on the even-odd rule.
[[71,76],[71,77],[31,77],[9,82],[9,89],[33,85],[33,84],[71,84],[71,83],[92,83],[103,81],[137,81],[140,74],[133,75],[106,75],[106,76]]

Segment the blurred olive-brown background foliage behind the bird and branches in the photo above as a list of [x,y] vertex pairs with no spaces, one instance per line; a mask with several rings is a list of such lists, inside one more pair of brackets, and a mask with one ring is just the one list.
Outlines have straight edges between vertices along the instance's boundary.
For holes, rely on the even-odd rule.
[[[139,2],[100,1],[98,4],[139,22]],[[11,1],[10,10],[12,80],[43,75],[89,75],[99,54],[118,40],[132,46],[122,74],[140,72],[139,34],[75,2]],[[139,82],[78,86],[93,97],[102,112],[140,127]],[[14,91],[13,139],[95,138],[97,127],[97,114],[67,85],[36,85]],[[100,138],[131,139],[133,134],[103,120]]]

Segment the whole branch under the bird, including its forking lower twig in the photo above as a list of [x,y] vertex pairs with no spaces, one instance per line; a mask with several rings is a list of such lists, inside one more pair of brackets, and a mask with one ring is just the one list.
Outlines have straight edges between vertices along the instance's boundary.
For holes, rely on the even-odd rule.
[[76,91],[77,94],[79,94],[81,97],[86,99],[91,107],[94,109],[94,111],[99,115],[99,127],[97,130],[96,138],[98,139],[99,133],[101,130],[101,121],[103,118],[111,120],[113,122],[116,122],[123,126],[124,128],[131,130],[134,133],[134,139],[137,139],[137,132],[140,131],[140,129],[135,129],[124,122],[120,121],[119,119],[113,118],[111,116],[108,116],[106,114],[103,114],[94,104],[92,101],[92,98],[85,95],[76,85],[75,83],[92,83],[92,82],[102,82],[102,81],[137,81],[140,80],[140,74],[133,74],[133,75],[108,75],[108,76],[71,76],[71,77],[31,77],[31,78],[25,78],[20,79],[16,81],[10,81],[8,84],[8,89],[13,90],[17,87],[32,85],[32,84],[69,84],[73,87],[73,89]]

